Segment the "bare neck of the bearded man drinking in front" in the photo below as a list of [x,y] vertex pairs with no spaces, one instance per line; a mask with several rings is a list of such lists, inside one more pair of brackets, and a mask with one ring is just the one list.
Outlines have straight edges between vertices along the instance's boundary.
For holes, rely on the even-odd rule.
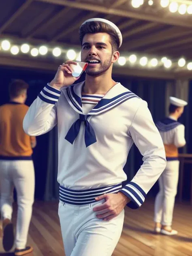
[[88,76],[85,78],[83,94],[106,94],[117,82],[111,76]]

